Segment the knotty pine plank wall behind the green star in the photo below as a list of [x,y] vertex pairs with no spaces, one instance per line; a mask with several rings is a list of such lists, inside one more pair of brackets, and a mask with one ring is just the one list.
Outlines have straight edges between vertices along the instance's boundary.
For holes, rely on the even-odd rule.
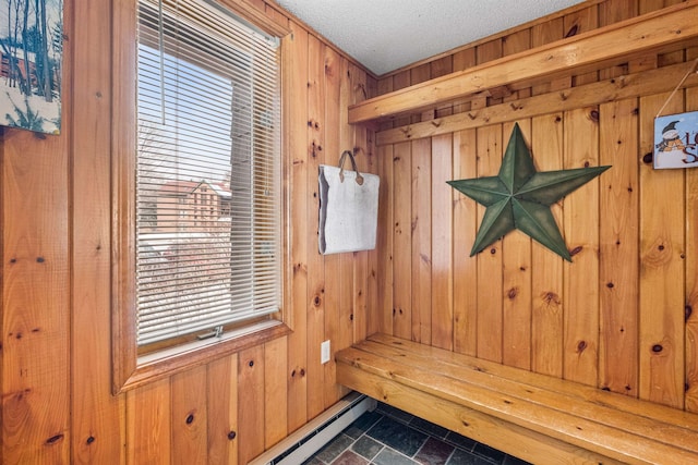
[[[467,69],[674,3],[589,1],[382,76],[378,94],[434,77],[428,70]],[[653,170],[646,157],[652,151],[653,119],[670,93],[648,86],[640,95],[600,105],[515,115],[520,99],[661,71],[697,56],[695,48],[648,56],[531,88],[490,89],[432,112],[383,122],[377,152],[392,162],[378,162],[378,172],[392,184],[384,193],[390,208],[382,210],[389,217],[382,217],[381,224],[390,225],[393,235],[384,232],[388,236],[381,246],[388,250],[381,250],[376,270],[393,286],[378,295],[381,329],[698,411],[696,174]],[[663,81],[673,87],[682,77],[665,71]],[[691,84],[663,113],[696,110],[696,95]],[[447,121],[442,117],[488,107],[493,107],[489,114],[496,111],[496,124],[488,124],[485,114],[478,125],[473,121],[457,129],[456,120],[448,120],[454,129],[438,130]],[[552,206],[573,264],[520,232],[468,257],[484,209],[460,194],[444,195],[441,186],[447,179],[495,174],[514,121],[541,171],[613,166]],[[430,122],[435,130],[428,134]],[[394,138],[382,142],[386,130]]]

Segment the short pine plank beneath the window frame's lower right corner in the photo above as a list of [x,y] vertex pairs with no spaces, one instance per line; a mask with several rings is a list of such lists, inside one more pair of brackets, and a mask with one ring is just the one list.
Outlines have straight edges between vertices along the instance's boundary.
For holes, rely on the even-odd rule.
[[[264,449],[288,435],[288,390],[286,372],[288,338],[279,338],[264,344]],[[320,357],[316,358],[316,360]],[[309,356],[309,368],[312,365]],[[310,369],[309,369],[310,372]],[[308,391],[312,380],[308,378]],[[309,399],[310,404],[310,399]],[[310,417],[310,414],[309,414]]]

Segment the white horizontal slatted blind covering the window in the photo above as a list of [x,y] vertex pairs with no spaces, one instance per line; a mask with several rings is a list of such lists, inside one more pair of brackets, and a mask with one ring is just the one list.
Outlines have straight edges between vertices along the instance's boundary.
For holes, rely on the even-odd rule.
[[137,20],[143,345],[279,309],[279,41],[206,0]]

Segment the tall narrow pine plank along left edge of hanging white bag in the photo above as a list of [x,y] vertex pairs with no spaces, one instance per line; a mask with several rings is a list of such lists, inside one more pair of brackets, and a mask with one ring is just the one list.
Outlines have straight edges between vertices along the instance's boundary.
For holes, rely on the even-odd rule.
[[324,409],[323,392],[325,369],[320,363],[321,343],[325,335],[325,264],[318,249],[320,192],[317,173],[320,166],[335,164],[335,154],[325,145],[325,81],[335,63],[326,54],[326,47],[315,37],[308,39],[308,418],[314,418]]

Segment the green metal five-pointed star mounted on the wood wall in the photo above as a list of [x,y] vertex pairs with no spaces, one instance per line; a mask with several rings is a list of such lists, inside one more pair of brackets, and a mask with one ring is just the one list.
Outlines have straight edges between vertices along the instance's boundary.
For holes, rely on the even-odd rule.
[[496,176],[447,182],[486,207],[470,256],[518,229],[571,261],[550,207],[609,168],[538,172],[521,130],[515,124]]

